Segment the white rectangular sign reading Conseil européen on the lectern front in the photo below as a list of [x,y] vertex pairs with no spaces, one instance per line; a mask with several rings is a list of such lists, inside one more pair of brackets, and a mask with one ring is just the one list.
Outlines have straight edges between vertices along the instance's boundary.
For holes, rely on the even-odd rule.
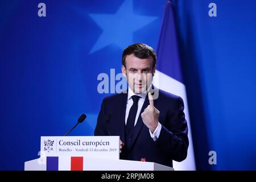
[[41,156],[119,159],[119,136],[41,137]]

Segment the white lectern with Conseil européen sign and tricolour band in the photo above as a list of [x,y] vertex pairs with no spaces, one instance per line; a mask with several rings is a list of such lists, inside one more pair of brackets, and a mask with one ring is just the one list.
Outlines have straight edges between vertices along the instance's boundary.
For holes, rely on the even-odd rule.
[[40,158],[25,171],[174,171],[152,162],[119,159],[119,137],[41,137]]

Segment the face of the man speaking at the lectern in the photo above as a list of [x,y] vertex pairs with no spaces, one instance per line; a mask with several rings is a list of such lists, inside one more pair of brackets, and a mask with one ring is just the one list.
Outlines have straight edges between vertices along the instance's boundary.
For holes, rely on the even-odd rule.
[[122,65],[122,73],[135,94],[146,93],[149,88],[155,73],[153,62],[152,56],[148,56],[146,59],[140,59],[134,54],[126,56],[126,67]]

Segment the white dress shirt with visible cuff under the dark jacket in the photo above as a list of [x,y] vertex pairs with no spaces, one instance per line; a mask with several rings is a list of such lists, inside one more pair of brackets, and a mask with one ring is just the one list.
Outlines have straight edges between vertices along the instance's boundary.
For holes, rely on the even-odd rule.
[[[146,93],[135,94],[133,92],[133,90],[130,89],[130,86],[129,86],[127,95],[128,95],[128,97],[127,97],[126,112],[125,112],[125,125],[127,123],[127,118],[128,118],[131,106],[133,106],[133,98],[131,98],[131,96],[137,95],[137,96],[141,97],[141,98],[139,98],[139,101],[138,101],[138,110],[137,110],[137,114],[136,114],[136,118],[135,118],[135,122],[134,122],[134,126],[135,126],[138,121],[139,113],[141,113],[141,109],[142,109],[142,106],[144,104],[147,94]],[[156,139],[158,139],[161,129],[162,129],[162,125],[159,122],[158,122],[158,126],[156,127],[154,133],[151,133],[150,129],[148,129],[150,132],[150,136],[154,141]]]

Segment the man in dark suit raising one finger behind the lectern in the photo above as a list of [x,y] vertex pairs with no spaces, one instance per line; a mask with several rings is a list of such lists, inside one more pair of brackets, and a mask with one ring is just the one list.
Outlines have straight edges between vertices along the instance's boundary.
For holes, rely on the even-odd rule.
[[129,89],[104,98],[94,135],[119,135],[120,159],[172,167],[172,160],[187,157],[187,121],[182,98],[151,84],[155,69],[155,51],[146,44],[123,51],[122,73]]

